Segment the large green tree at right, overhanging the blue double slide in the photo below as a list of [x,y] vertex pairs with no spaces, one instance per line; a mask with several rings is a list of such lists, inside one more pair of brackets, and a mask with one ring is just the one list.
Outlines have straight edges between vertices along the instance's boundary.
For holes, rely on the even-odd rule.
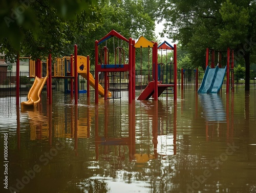
[[193,63],[205,65],[205,49],[234,50],[246,67],[245,90],[249,90],[250,56],[255,55],[256,2],[243,0],[159,0],[161,19],[169,38],[179,40]]

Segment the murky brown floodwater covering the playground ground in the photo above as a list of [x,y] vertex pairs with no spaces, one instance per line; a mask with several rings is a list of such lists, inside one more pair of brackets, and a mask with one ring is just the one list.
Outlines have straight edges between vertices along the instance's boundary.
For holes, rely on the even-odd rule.
[[81,94],[74,105],[55,94],[49,106],[42,93],[39,111],[20,112],[0,98],[0,192],[256,192],[255,101],[179,91],[176,104]]

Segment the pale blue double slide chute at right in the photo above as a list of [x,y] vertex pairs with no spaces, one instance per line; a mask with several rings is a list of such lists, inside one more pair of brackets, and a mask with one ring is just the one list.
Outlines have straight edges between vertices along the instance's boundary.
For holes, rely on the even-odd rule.
[[198,93],[218,93],[225,77],[226,68],[222,69],[217,66],[211,69],[207,66]]

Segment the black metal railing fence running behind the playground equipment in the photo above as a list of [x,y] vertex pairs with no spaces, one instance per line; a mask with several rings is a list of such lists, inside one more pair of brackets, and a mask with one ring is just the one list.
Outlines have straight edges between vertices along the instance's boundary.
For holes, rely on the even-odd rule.
[[[91,71],[94,76],[94,71]],[[178,70],[178,88],[181,85],[181,70]],[[19,72],[20,81],[19,81],[19,91],[20,95],[27,95],[29,89],[31,88],[34,79],[29,78],[28,71]],[[198,88],[200,87],[204,76],[204,71],[198,72]],[[115,78],[112,78],[115,77]],[[118,88],[120,90],[128,90],[129,76],[127,72],[118,73],[118,76],[110,76],[110,87]],[[231,77],[231,72],[230,72]],[[153,80],[152,72],[148,70],[136,70],[135,83],[136,89],[144,89],[148,82]],[[173,83],[173,69],[167,71],[162,70],[158,75],[158,80],[162,83]],[[64,81],[63,79],[53,79],[53,89],[57,91],[64,90]],[[99,83],[104,86],[102,79],[99,80]],[[87,80],[83,77],[79,77],[80,88],[86,89]],[[223,89],[226,85],[226,77],[223,81]],[[0,71],[0,97],[5,96],[15,96],[16,95],[16,72],[11,71]],[[183,89],[184,90],[196,90],[196,70],[183,70]],[[231,82],[230,82],[231,88]],[[244,71],[234,71],[234,89],[235,90],[244,90],[245,89],[245,72]],[[256,71],[250,72],[250,90],[256,90]]]

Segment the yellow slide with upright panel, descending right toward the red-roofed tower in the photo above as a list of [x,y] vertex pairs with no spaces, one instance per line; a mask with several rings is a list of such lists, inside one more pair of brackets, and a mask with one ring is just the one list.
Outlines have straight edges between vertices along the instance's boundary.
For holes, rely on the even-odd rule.
[[[77,56],[77,72],[85,79],[87,79],[87,57]],[[90,85],[95,89],[95,79],[93,75],[89,72]],[[99,95],[104,96],[104,89],[100,84],[98,84]],[[109,96],[111,93],[109,92]]]

